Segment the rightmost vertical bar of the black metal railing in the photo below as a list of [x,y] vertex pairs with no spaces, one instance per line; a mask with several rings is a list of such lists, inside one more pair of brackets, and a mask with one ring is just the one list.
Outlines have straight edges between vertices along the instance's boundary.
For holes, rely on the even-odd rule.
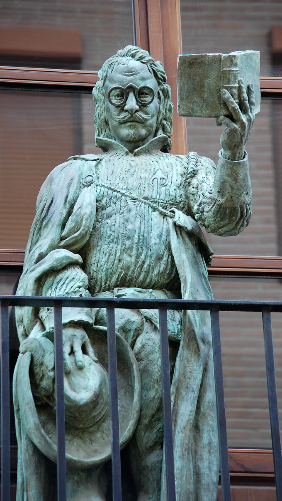
[[270,310],[262,311],[265,367],[277,501],[282,501],[282,454]]

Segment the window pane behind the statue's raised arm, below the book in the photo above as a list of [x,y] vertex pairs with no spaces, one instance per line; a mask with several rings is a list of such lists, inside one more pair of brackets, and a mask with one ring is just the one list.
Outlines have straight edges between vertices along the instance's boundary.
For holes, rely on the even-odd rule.
[[[186,124],[188,151],[197,151],[217,164],[223,127],[216,127],[214,118],[187,118]],[[281,132],[282,101],[263,100],[246,146],[252,216],[249,225],[236,236],[206,235],[216,255],[281,256]]]

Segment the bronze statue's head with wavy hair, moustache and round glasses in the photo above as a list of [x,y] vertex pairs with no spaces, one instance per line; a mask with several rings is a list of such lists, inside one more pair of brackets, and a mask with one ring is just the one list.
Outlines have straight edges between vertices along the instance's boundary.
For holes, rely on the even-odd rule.
[[[171,137],[171,91],[159,61],[128,45],[103,64],[98,76],[93,89],[95,138],[114,139],[133,151],[155,136]],[[171,141],[164,148],[168,152]]]

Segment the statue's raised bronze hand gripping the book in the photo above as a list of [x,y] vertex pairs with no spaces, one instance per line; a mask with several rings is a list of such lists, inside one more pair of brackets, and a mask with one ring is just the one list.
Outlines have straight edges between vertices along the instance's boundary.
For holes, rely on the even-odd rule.
[[254,90],[253,85],[244,87],[242,79],[238,81],[239,105],[234,101],[231,94],[226,90],[221,90],[232,117],[221,115],[216,119],[216,125],[225,125],[225,130],[220,137],[220,144],[223,150],[223,157],[227,160],[242,160],[245,153],[245,144],[249,137],[250,129],[254,120]]

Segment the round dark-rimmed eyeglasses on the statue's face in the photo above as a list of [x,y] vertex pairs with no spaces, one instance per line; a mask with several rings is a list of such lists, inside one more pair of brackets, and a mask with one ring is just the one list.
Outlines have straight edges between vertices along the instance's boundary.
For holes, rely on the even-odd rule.
[[136,102],[141,106],[148,106],[154,100],[154,89],[149,87],[149,85],[140,85],[137,87],[137,85],[128,84],[126,87],[121,87],[120,85],[111,87],[107,94],[109,103],[113,106],[123,106],[127,101],[130,89],[134,91]]

